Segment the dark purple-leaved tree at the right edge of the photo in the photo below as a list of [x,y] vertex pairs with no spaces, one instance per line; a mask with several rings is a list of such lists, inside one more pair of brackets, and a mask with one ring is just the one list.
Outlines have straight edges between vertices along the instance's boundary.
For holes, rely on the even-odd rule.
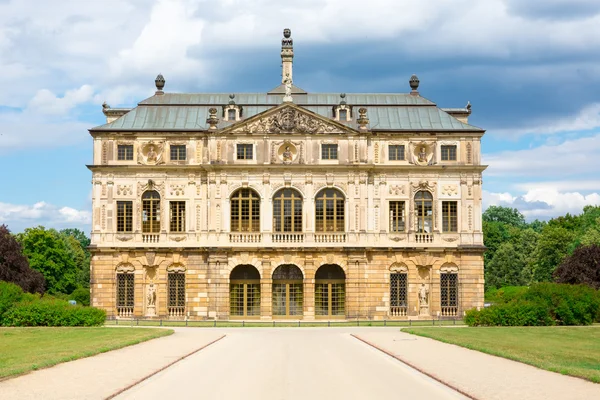
[[554,271],[558,283],[585,284],[600,289],[600,246],[580,246]]

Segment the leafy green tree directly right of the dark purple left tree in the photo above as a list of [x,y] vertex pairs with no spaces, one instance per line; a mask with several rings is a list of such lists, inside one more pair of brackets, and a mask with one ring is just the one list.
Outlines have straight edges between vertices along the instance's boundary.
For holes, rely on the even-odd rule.
[[63,235],[43,226],[27,228],[17,235],[29,265],[40,271],[48,285],[48,292],[71,293],[77,287],[78,268],[73,251]]

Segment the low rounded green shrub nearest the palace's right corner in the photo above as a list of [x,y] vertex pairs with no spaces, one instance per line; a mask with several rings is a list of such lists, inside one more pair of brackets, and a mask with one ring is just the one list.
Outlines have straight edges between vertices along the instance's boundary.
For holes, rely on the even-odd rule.
[[541,304],[513,302],[466,312],[468,326],[546,326],[554,325],[548,308]]

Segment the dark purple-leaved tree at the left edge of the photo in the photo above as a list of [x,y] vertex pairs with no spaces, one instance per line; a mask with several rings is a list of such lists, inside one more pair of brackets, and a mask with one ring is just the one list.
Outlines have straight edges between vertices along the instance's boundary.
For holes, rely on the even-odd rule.
[[46,287],[44,276],[31,269],[6,225],[0,225],[0,281],[12,282],[30,293],[44,293]]

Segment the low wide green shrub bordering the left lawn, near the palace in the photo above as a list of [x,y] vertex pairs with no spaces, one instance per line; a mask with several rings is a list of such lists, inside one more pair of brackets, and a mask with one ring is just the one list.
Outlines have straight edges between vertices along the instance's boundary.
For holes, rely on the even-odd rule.
[[106,312],[93,307],[73,306],[62,300],[22,301],[4,314],[4,326],[97,326]]

